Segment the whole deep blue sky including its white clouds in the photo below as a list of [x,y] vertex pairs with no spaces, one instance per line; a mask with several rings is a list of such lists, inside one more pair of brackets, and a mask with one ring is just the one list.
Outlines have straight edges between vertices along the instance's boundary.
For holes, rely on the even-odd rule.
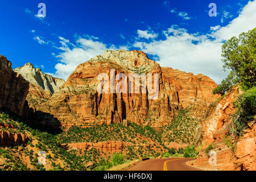
[[[45,17],[36,16],[40,2]],[[208,15],[212,2],[216,17]],[[0,0],[0,10],[0,55],[13,68],[31,62],[65,79],[106,49],[139,49],[164,67],[220,83],[222,43],[256,27],[256,2],[247,0]]]

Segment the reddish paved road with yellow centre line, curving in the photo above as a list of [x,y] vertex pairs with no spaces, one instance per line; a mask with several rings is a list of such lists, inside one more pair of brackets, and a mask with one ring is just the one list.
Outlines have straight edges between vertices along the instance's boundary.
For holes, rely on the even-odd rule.
[[127,171],[200,171],[200,169],[188,166],[188,158],[150,159],[139,162]]

